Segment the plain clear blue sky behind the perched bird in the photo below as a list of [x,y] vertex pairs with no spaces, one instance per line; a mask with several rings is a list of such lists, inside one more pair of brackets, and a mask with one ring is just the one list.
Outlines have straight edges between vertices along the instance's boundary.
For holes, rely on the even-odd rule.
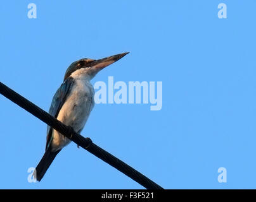
[[[35,3],[37,18],[27,17]],[[226,3],[227,19],[218,4]],[[162,81],[162,110],[97,104],[82,135],[167,189],[256,188],[255,6],[246,1],[4,1],[0,81],[48,110],[71,62],[131,52],[105,81]],[[141,189],[74,143],[39,183],[46,124],[0,96],[0,188]],[[219,167],[227,182],[219,183]]]

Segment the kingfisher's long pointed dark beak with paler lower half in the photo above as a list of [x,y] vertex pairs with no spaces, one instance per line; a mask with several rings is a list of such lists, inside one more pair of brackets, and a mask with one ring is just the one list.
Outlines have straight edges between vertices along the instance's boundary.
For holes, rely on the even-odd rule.
[[115,56],[105,57],[103,59],[97,59],[91,63],[91,67],[93,69],[101,70],[103,68],[106,68],[106,66],[109,66],[113,62],[118,61],[119,59],[121,59],[122,57],[124,57],[127,54],[129,54],[129,52],[124,52],[121,54],[117,54]]

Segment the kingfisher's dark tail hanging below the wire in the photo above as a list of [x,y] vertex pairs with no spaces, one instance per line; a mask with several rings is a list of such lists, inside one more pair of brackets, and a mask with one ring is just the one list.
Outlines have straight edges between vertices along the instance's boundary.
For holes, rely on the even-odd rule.
[[59,152],[60,150],[53,151],[53,152],[51,152],[49,149],[46,150],[46,152],[44,153],[44,156],[42,157],[41,161],[38,163],[33,173],[37,181],[39,182],[41,181],[42,177],[44,177],[44,174],[46,173],[46,170],[48,170],[49,166],[51,165],[54,158]]

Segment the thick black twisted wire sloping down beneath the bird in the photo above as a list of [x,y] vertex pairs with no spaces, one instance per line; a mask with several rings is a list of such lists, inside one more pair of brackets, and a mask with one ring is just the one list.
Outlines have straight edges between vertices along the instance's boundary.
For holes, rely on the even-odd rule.
[[8,86],[4,85],[1,82],[0,93],[4,95],[4,97],[10,99],[15,104],[19,105],[23,109],[33,114],[41,121],[48,124],[48,126],[51,126],[51,128],[54,128],[56,129],[56,131],[60,132],[64,136],[67,136],[67,138],[74,141],[74,143],[76,143],[77,145],[81,146],[90,153],[93,153],[93,155],[112,165],[113,167],[115,167],[115,169],[124,173],[128,177],[131,177],[131,179],[138,182],[146,189],[163,189],[163,187],[151,181],[151,179],[148,179],[148,177],[133,169],[131,166],[122,162],[122,160],[119,160],[117,157],[114,157],[112,154],[95,145],[90,138],[84,138],[80,134],[75,133],[72,127],[65,126],[65,124],[55,119],[53,116],[48,114],[48,112],[42,110],[40,107],[37,107],[37,105],[33,104],[26,98],[14,92],[10,88],[8,88]]

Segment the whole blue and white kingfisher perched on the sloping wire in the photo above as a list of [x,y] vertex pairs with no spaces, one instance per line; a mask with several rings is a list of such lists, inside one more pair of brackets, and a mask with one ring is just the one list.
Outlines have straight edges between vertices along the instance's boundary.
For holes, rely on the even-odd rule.
[[[118,61],[129,52],[103,59],[80,59],[68,67],[64,81],[56,91],[49,114],[76,133],[80,133],[94,107],[94,88],[90,81],[101,69]],[[34,177],[41,181],[56,155],[70,140],[50,126],[47,127],[46,150],[34,170]]]

